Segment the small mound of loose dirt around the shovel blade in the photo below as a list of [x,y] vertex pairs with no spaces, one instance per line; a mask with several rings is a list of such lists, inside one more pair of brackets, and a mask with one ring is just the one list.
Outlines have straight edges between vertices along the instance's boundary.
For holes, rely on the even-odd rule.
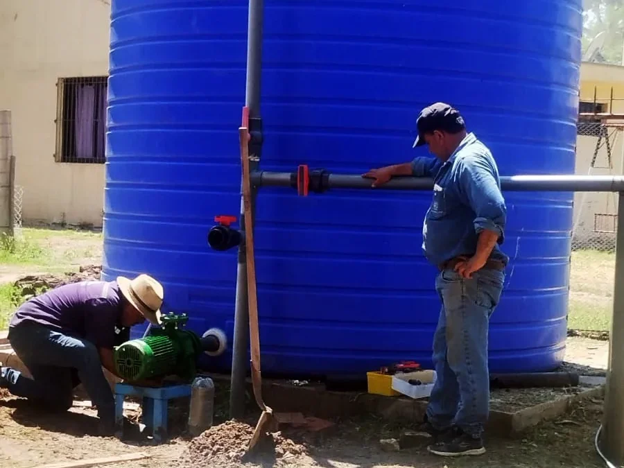
[[244,462],[286,465],[306,454],[304,446],[279,432],[262,437],[252,453],[246,453],[253,433],[253,426],[238,421],[211,427],[191,441],[180,458],[180,467],[231,467]]

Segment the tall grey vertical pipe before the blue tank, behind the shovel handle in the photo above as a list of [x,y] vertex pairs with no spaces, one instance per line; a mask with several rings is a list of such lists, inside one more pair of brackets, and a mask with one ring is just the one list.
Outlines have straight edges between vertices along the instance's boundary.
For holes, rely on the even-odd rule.
[[[263,0],[250,0],[247,40],[247,80],[245,105],[249,108],[250,132],[254,134],[260,118],[260,78],[262,63]],[[250,171],[257,171],[260,162],[261,141],[250,142]],[[241,185],[242,189],[242,185]],[[252,216],[257,189],[252,187]],[[242,195],[242,190],[241,190]],[[245,214],[241,196],[241,228]],[[249,347],[249,298],[247,294],[247,256],[245,245],[239,245],[236,268],[236,305],[234,306],[234,340],[232,343],[232,377],[229,393],[229,417],[240,419],[245,414],[245,377],[247,376],[247,350]]]

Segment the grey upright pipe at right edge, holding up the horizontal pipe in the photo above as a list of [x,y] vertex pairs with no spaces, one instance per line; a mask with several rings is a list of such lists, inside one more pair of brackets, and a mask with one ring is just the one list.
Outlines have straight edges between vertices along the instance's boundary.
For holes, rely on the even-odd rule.
[[624,192],[619,195],[613,318],[603,419],[603,450],[605,456],[618,467],[624,464],[624,225],[619,225],[619,221],[624,219]]

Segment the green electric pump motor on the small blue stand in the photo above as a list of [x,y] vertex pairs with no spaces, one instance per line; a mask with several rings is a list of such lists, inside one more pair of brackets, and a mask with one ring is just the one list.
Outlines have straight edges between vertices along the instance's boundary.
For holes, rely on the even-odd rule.
[[168,375],[192,381],[198,356],[202,352],[209,356],[223,354],[226,338],[219,329],[210,329],[201,337],[185,330],[188,320],[185,313],[162,315],[161,327],[151,329],[150,335],[116,347],[117,374],[130,382]]

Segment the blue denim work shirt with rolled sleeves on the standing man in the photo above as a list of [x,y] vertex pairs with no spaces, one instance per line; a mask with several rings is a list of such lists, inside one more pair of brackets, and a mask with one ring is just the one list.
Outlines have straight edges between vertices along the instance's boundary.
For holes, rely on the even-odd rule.
[[473,133],[462,140],[447,162],[436,157],[416,157],[416,177],[434,181],[433,201],[422,227],[422,250],[434,265],[476,252],[483,229],[499,234],[490,259],[507,264],[501,252],[507,209],[501,193],[499,169],[487,147]]

